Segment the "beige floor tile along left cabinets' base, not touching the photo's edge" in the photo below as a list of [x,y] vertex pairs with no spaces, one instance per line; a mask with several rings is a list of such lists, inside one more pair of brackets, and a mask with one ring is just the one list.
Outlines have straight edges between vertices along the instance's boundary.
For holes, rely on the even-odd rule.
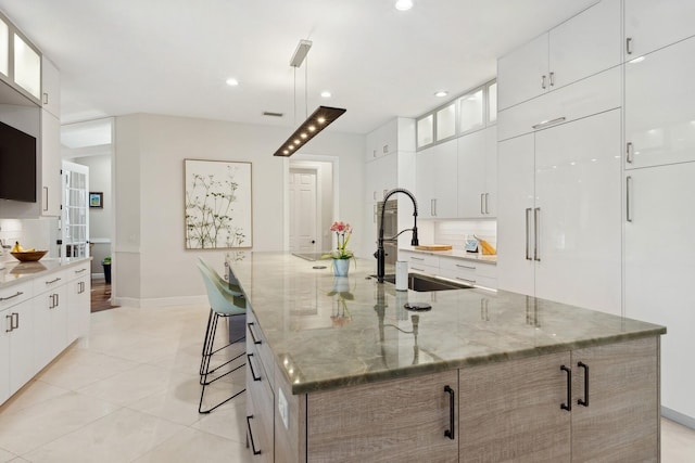
[[38,378],[54,386],[77,390],[137,365],[131,360],[71,347],[47,366]]

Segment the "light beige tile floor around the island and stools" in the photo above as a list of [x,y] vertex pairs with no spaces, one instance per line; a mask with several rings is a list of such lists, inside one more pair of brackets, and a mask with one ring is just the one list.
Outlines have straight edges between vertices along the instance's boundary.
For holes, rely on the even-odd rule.
[[[89,337],[0,408],[0,462],[251,461],[243,394],[198,413],[207,310],[92,313]],[[242,388],[243,375],[225,378],[211,400]],[[661,434],[664,463],[695,462],[695,430],[664,420]]]

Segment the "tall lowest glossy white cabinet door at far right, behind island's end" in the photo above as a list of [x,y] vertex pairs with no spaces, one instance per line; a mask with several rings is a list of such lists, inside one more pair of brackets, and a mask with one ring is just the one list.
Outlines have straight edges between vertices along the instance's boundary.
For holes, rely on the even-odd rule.
[[695,163],[628,173],[626,317],[665,325],[661,404],[695,419]]

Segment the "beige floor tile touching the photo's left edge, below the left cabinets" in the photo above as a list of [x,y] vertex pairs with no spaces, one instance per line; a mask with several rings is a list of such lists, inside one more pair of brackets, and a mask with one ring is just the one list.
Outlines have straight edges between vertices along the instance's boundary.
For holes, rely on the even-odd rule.
[[68,393],[0,416],[0,448],[23,455],[89,424],[118,407]]

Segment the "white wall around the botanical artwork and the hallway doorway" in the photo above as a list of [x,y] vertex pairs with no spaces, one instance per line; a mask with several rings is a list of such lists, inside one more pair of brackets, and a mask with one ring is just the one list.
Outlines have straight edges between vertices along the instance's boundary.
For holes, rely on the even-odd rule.
[[[137,114],[116,117],[114,303],[164,306],[202,300],[195,259],[222,272],[225,250],[187,250],[184,243],[184,159],[252,163],[253,249],[282,250],[285,172],[273,153],[288,128]],[[364,136],[326,131],[307,154],[339,158],[339,210],[362,226]],[[352,219],[354,217],[354,220]],[[359,243],[355,243],[359,246]]]

